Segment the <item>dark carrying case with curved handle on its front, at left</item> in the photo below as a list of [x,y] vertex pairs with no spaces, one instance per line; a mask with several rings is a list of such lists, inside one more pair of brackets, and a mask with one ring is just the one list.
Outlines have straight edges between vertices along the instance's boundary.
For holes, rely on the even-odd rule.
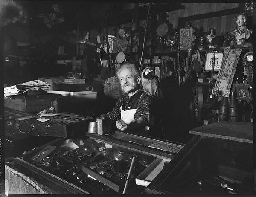
[[5,133],[70,137],[87,132],[92,117],[73,113],[57,113],[56,116],[23,116],[5,120]]

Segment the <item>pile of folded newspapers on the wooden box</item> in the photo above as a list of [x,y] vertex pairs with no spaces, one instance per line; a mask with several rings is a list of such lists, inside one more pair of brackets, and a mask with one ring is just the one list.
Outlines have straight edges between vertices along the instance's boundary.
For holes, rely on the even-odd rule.
[[4,98],[19,95],[30,90],[47,90],[51,87],[51,85],[47,84],[47,82],[43,82],[40,80],[28,81],[23,84],[17,84],[10,87],[4,88]]

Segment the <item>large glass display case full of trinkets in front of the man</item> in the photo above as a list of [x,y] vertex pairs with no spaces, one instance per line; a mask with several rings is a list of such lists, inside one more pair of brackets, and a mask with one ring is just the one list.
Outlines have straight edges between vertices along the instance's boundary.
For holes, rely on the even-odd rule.
[[132,133],[86,133],[28,151],[12,168],[57,194],[141,194],[182,148]]

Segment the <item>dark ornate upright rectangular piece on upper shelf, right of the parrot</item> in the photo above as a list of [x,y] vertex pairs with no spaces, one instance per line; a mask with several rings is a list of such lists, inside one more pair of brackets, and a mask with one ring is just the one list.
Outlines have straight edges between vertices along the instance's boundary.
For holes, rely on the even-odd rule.
[[195,30],[192,27],[184,27],[180,29],[180,50],[191,49],[194,45]]

